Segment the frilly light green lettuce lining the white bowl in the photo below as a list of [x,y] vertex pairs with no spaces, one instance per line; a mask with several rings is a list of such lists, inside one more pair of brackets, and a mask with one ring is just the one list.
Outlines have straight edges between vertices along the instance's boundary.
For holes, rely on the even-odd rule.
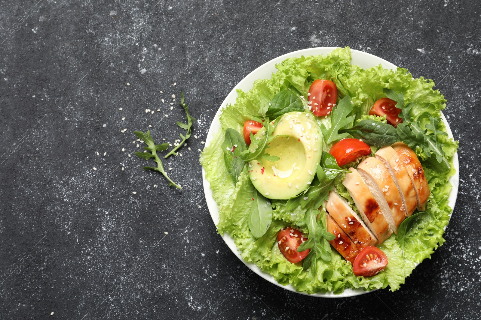
[[[413,119],[418,119],[424,112],[429,112],[435,118],[441,117],[440,110],[446,107],[446,100],[439,91],[433,90],[432,80],[422,77],[415,79],[403,68],[387,70],[378,65],[363,70],[351,65],[350,61],[349,47],[335,49],[327,56],[303,56],[282,61],[276,65],[278,71],[272,74],[271,78],[255,81],[248,92],[238,91],[236,102],[224,108],[220,116],[221,132],[215,135],[214,140],[201,154],[201,164],[219,207],[217,231],[220,234],[228,233],[234,238],[245,261],[255,263],[260,270],[270,273],[278,283],[292,284],[296,290],[305,293],[342,293],[346,288],[372,290],[389,287],[391,291],[399,289],[416,264],[430,258],[434,250],[444,243],[444,226],[447,225],[452,211],[447,201],[451,190],[448,179],[455,174],[452,166],[453,154],[458,145],[447,136],[437,135],[450,169],[443,172],[431,169],[427,166],[429,160],[422,157],[422,150],[415,150],[425,168],[431,190],[429,202],[425,213],[418,216],[406,233],[404,252],[395,237],[388,238],[379,246],[389,260],[383,272],[369,278],[355,277],[351,263],[345,261],[335,250],[330,253],[330,261],[317,259],[316,267],[309,270],[303,268],[302,261],[288,262],[278,250],[278,232],[281,228],[291,226],[307,234],[308,228],[304,223],[305,210],[298,206],[289,211],[286,209],[286,201],[272,201],[271,225],[264,236],[253,237],[248,226],[248,213],[253,202],[254,187],[246,168],[241,172],[239,181],[233,183],[223,161],[220,144],[227,128],[242,132],[244,122],[256,117],[260,107],[265,106],[279,92],[291,90],[295,94],[306,96],[312,81],[329,79],[336,83],[338,101],[345,95],[351,97],[354,121],[373,119],[385,122],[385,119],[368,116],[368,111],[377,99],[385,97],[383,89],[389,88],[396,93],[403,93],[405,104],[413,103],[414,106],[409,110]],[[326,129],[330,128],[330,119],[322,117],[317,121],[319,125],[324,124]],[[439,122],[438,129],[446,131],[443,121]],[[329,147],[330,145],[325,143],[324,151],[329,150]],[[351,165],[355,167],[357,164]],[[342,185],[342,178],[343,174],[340,174],[333,186],[350,202],[353,210],[357,210]]]

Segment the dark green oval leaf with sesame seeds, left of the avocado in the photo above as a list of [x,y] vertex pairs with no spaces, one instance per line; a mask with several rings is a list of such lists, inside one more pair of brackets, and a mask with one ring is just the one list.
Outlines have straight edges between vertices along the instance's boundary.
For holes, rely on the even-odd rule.
[[241,153],[247,150],[244,137],[242,137],[239,131],[228,128],[226,130],[226,138],[224,142],[222,142],[221,148],[224,152],[227,172],[234,184],[236,184],[241,175],[242,168],[245,166],[245,161],[241,157]]

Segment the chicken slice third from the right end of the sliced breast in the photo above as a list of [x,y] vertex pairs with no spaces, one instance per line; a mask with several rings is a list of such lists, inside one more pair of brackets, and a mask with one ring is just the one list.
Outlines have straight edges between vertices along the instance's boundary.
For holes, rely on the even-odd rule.
[[392,231],[397,235],[397,229],[406,218],[406,210],[388,169],[381,160],[368,157],[357,166],[374,199],[378,202]]

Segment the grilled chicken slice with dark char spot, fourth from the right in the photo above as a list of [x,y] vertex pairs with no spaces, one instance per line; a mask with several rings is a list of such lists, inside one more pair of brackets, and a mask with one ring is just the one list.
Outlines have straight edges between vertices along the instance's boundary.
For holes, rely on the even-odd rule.
[[351,173],[346,174],[342,184],[349,191],[364,222],[381,244],[392,235],[392,230],[382,214],[378,202],[359,173],[354,168],[349,168],[349,170]]

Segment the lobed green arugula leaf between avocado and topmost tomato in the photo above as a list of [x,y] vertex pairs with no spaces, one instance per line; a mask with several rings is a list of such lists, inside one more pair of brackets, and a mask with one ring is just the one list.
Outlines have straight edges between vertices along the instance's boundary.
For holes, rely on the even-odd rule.
[[326,143],[331,143],[335,140],[341,140],[349,135],[349,133],[339,133],[343,127],[350,124],[353,120],[353,116],[349,116],[353,111],[353,105],[351,104],[351,97],[345,95],[337,107],[332,109],[331,112],[331,127],[326,128],[324,124],[321,125],[321,131]]

